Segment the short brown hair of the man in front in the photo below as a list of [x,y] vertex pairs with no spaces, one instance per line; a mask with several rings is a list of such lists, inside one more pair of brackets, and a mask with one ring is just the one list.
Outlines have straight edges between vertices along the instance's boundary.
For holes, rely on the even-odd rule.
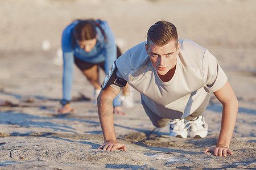
[[154,42],[158,46],[166,45],[168,42],[174,40],[175,45],[178,44],[177,28],[174,24],[167,21],[159,21],[148,29],[147,44],[149,41]]

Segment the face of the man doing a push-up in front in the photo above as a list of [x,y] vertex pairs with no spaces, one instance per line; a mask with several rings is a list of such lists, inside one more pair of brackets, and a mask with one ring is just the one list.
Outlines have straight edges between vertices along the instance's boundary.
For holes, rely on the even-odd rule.
[[158,46],[150,41],[145,44],[147,54],[158,75],[166,75],[176,66],[176,56],[179,54],[180,44],[175,46],[175,41],[170,41],[164,46]]

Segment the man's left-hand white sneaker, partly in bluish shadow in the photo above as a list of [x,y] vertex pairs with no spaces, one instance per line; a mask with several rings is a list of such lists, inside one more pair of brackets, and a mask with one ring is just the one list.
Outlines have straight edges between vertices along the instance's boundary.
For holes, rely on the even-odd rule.
[[178,138],[187,138],[188,128],[183,119],[174,119],[170,122],[170,136]]

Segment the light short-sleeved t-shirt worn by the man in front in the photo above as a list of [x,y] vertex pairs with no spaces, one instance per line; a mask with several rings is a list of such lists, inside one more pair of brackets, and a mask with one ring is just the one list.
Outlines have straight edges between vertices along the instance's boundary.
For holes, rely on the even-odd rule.
[[117,59],[117,76],[141,92],[144,104],[160,117],[189,116],[209,92],[219,90],[228,79],[207,49],[190,40],[179,40],[175,74],[169,82],[163,82],[150,62],[145,43],[134,46]]

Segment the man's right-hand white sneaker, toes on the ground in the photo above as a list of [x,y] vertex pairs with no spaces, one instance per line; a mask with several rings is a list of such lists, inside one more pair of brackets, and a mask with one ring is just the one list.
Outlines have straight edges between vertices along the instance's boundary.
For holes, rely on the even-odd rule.
[[194,120],[188,121],[187,124],[190,124],[190,133],[191,138],[205,138],[208,133],[208,125],[205,123],[203,116],[196,117]]

